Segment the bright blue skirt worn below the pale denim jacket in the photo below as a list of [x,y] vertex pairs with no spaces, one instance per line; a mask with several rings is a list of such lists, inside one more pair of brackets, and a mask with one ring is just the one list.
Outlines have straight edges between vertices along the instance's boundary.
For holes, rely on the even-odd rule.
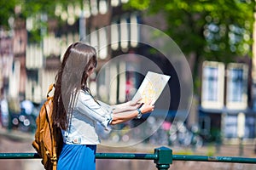
[[96,144],[64,144],[58,170],[95,170]]

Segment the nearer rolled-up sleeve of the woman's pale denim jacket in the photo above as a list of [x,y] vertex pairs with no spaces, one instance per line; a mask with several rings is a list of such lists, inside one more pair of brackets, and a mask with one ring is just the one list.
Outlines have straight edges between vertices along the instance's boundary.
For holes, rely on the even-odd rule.
[[86,94],[84,91],[80,91],[79,93],[76,109],[81,114],[84,114],[85,116],[90,117],[90,119],[99,122],[106,129],[108,128],[110,122],[112,122],[112,111],[104,110],[101,105],[96,103],[90,94]]

